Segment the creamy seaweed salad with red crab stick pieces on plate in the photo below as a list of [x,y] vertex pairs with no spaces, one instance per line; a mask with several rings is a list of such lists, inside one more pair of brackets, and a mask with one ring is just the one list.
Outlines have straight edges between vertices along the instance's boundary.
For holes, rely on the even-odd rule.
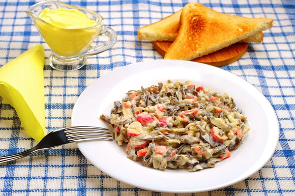
[[250,130],[230,95],[191,81],[168,80],[127,96],[115,102],[111,116],[100,118],[114,127],[119,146],[127,143],[129,159],[155,169],[214,167],[231,157]]

